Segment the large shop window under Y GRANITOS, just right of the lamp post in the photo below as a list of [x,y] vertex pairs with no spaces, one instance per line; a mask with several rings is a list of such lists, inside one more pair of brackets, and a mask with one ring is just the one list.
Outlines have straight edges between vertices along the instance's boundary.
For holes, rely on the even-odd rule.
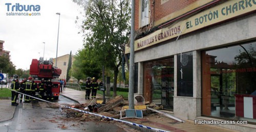
[[145,100],[173,110],[174,58],[144,63],[143,96]]

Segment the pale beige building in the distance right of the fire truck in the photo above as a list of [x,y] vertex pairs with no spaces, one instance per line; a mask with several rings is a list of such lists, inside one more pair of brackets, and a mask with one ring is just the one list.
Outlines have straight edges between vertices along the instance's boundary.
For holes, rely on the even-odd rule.
[[[61,69],[61,74],[59,76],[59,79],[65,79],[67,78],[67,70],[69,65],[69,54],[60,56],[57,58],[57,67]],[[72,56],[72,64],[74,62],[75,58]],[[53,66],[55,66],[55,58],[53,59]]]

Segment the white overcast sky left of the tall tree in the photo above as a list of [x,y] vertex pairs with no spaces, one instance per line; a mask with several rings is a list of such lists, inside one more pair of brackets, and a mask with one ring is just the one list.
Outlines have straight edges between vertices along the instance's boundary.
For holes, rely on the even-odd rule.
[[[11,3],[10,10],[6,3]],[[11,11],[13,5],[39,5],[39,11]],[[21,9],[21,8],[19,8]],[[56,58],[58,21],[60,13],[58,57],[74,55],[82,48],[82,35],[76,16],[82,10],[72,0],[1,0],[0,40],[5,41],[4,50],[10,51],[16,69],[29,69],[32,59]],[[40,13],[39,16],[7,16],[7,13]]]

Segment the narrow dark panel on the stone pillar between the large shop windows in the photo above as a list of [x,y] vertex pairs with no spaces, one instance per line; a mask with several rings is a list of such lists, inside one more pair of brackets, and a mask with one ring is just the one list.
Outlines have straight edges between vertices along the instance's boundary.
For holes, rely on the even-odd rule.
[[177,95],[193,97],[193,52],[177,55]]

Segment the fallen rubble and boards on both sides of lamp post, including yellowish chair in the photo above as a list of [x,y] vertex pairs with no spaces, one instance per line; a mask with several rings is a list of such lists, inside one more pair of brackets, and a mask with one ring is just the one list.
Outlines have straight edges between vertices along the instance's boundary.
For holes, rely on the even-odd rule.
[[[93,113],[97,113],[99,115],[105,116],[105,117],[110,117],[110,118],[115,118],[115,119],[122,119],[122,117],[120,116],[121,113],[120,111],[123,111],[124,108],[129,109],[129,107],[127,105],[129,105],[129,101],[124,100],[124,98],[122,96],[117,96],[116,98],[110,98],[108,101],[106,101],[105,104],[100,104],[97,103],[97,101],[100,100],[100,98],[93,98],[90,100],[89,103],[84,103],[84,104],[72,104],[70,105],[73,106],[72,108],[76,108],[79,110],[83,110],[83,111],[90,111]],[[147,104],[147,105],[145,105]],[[89,106],[91,106],[92,108],[89,109]],[[126,106],[126,107],[125,107]],[[161,110],[163,109],[163,107],[160,105],[155,104],[154,102],[151,104],[148,104],[147,101],[144,102],[144,104],[138,104],[135,105],[135,107],[137,108],[137,110],[142,110],[143,113],[141,113],[141,117],[148,119],[150,117],[155,117],[153,119],[157,119],[159,120],[159,118],[157,116],[161,116],[159,115],[159,113],[156,111],[157,110]],[[86,109],[87,108],[87,109]],[[149,108],[149,109],[147,109]],[[156,111],[152,111],[156,110]],[[80,113],[78,111],[74,111],[72,109],[68,109],[68,108],[62,108],[62,112],[66,113],[66,118],[62,118],[63,120],[66,121],[76,121],[82,124],[82,122],[88,122],[88,121],[93,121],[93,122],[108,122],[108,123],[116,123],[115,121],[108,119],[108,118],[102,118],[100,116],[95,116],[93,114],[86,114],[86,113]],[[125,116],[125,112],[122,113],[122,116]],[[161,117],[163,118],[163,117]],[[166,118],[166,117],[165,117]],[[165,120],[165,119],[164,119]],[[160,120],[163,121],[164,120]]]

